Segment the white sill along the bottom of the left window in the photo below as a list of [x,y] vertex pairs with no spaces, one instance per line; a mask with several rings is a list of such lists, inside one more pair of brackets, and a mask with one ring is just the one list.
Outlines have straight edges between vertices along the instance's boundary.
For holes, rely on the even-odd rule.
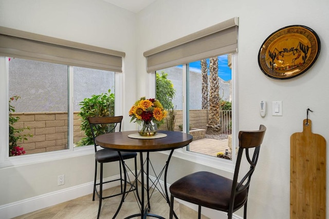
[[41,163],[52,160],[61,160],[70,157],[78,157],[89,154],[94,154],[94,145],[88,145],[81,148],[74,148],[74,150],[52,151],[40,154],[31,154],[23,156],[9,157],[4,162],[0,163],[0,168],[15,167],[21,165],[30,165],[33,163]]

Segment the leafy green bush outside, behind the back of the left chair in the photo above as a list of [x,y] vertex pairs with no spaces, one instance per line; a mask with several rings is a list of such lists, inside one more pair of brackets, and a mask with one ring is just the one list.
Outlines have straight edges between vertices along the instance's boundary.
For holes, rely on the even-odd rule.
[[[81,131],[84,131],[86,137],[82,138],[76,144],[77,146],[94,144],[93,134],[90,130],[88,117],[105,117],[114,116],[114,94],[111,93],[111,89],[108,89],[108,93],[93,95],[90,98],[85,98],[80,102],[81,117]],[[96,134],[97,135],[97,134]]]

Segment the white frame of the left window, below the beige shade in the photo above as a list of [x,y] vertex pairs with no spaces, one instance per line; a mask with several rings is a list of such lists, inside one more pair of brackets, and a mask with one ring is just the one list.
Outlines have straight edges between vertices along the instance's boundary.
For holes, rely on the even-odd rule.
[[[0,119],[4,122],[0,125],[0,168],[28,165],[30,163],[45,162],[50,160],[66,159],[69,157],[84,156],[94,154],[94,145],[86,145],[84,147],[74,148],[74,80],[73,67],[68,65],[68,143],[70,147],[65,150],[43,152],[38,154],[29,154],[21,156],[9,157],[9,61],[8,57],[0,56],[0,102],[6,103],[3,107],[5,110],[0,111]],[[115,112],[122,112],[122,104],[118,102],[122,97],[122,81],[123,75],[120,72],[115,72]]]

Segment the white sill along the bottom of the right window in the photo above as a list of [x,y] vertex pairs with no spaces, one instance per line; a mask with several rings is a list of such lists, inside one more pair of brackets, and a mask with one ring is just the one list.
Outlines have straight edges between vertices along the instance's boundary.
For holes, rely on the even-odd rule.
[[[159,153],[169,155],[170,151],[161,151]],[[234,168],[235,168],[235,163],[232,160],[198,154],[195,152],[189,152],[189,151],[186,151],[186,147],[181,148],[181,149],[176,149],[172,156],[179,158],[179,159],[184,159],[184,160],[188,160],[191,162],[195,162],[200,165],[205,165],[207,167],[226,171],[229,173],[233,173]]]

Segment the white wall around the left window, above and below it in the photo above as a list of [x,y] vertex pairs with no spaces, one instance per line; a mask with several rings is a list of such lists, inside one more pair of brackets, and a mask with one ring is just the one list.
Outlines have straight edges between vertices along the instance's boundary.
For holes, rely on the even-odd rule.
[[[126,130],[134,128],[127,114],[137,99],[135,17],[135,13],[102,0],[0,0],[0,26],[125,52],[124,72],[119,78],[125,87],[129,87],[120,101],[122,114],[126,115],[123,120]],[[5,82],[1,84],[0,118],[5,121],[8,118],[8,114],[5,115],[7,100],[3,95],[6,87]],[[2,122],[0,127],[0,135],[4,135],[8,126]],[[94,160],[92,152],[60,160],[51,160],[50,156],[46,162],[0,168],[0,211],[4,205],[92,182]],[[112,168],[105,170],[107,176],[118,174],[118,168]],[[65,185],[59,187],[57,176],[61,174],[65,175]]]

